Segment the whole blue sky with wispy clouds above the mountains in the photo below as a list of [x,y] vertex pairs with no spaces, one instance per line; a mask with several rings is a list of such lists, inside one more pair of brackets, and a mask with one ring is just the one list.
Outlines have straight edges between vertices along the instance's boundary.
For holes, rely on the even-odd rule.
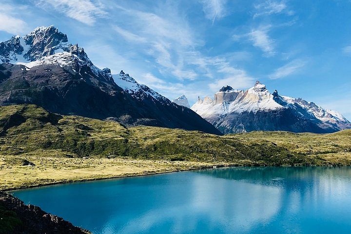
[[0,41],[55,25],[161,95],[256,80],[351,119],[351,0],[0,0]]

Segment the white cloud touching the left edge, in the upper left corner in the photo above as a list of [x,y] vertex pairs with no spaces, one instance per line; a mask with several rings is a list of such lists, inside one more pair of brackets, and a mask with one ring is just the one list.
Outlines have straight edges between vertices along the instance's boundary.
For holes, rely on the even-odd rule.
[[19,8],[9,4],[1,4],[0,31],[10,34],[21,34],[26,31],[27,23],[15,16],[16,9]]

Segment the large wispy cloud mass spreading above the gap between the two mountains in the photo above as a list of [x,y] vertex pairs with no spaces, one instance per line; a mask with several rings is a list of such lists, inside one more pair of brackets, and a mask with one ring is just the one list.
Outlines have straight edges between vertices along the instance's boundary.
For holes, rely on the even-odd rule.
[[[131,73],[138,82],[155,89],[168,98],[176,98],[185,94],[190,102],[197,96],[207,95],[207,92],[217,91],[223,85],[231,84],[235,88],[250,86],[253,79],[244,70],[238,69],[235,61],[250,59],[247,52],[229,53],[228,55],[207,56],[201,48],[204,43],[197,38],[197,30],[188,24],[187,18],[177,7],[165,7],[162,10],[133,8],[133,5],[121,6],[114,3],[111,8],[118,10],[118,17],[111,22],[112,35],[117,33],[122,38],[122,50],[117,59],[111,58],[111,65],[106,63],[113,71],[122,68]],[[128,20],[125,20],[128,19]],[[115,38],[116,36],[112,36]],[[115,39],[116,43],[118,39]],[[118,42],[117,42],[118,43]],[[137,51],[132,53],[131,50]],[[111,49],[88,48],[95,51],[100,58],[106,60],[105,51]],[[127,52],[128,51],[128,52]],[[95,56],[96,57],[96,56]],[[147,58],[150,62],[142,67],[129,69],[140,58]],[[121,65],[130,65],[121,67]],[[166,78],[162,80],[161,78]],[[209,85],[211,84],[211,85]],[[195,92],[194,92],[195,91]]]

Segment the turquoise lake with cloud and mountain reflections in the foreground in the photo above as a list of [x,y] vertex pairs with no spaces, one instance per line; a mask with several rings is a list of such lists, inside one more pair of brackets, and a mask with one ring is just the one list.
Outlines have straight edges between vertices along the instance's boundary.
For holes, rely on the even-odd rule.
[[223,168],[15,191],[94,234],[351,233],[351,168]]

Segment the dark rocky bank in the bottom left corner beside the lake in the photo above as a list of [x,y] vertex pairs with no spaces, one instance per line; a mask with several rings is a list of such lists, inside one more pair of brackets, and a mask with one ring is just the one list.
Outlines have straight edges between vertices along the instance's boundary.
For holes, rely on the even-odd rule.
[[0,191],[3,234],[89,234],[62,218],[42,211],[38,206],[25,205],[20,199]]

